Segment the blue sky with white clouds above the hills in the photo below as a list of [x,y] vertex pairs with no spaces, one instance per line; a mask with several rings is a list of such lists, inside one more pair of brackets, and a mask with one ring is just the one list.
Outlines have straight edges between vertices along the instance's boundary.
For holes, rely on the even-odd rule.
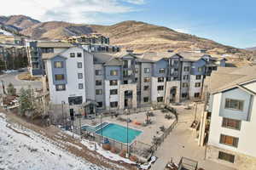
[[255,7],[255,0],[7,0],[0,15],[101,25],[138,20],[249,48],[256,47]]

